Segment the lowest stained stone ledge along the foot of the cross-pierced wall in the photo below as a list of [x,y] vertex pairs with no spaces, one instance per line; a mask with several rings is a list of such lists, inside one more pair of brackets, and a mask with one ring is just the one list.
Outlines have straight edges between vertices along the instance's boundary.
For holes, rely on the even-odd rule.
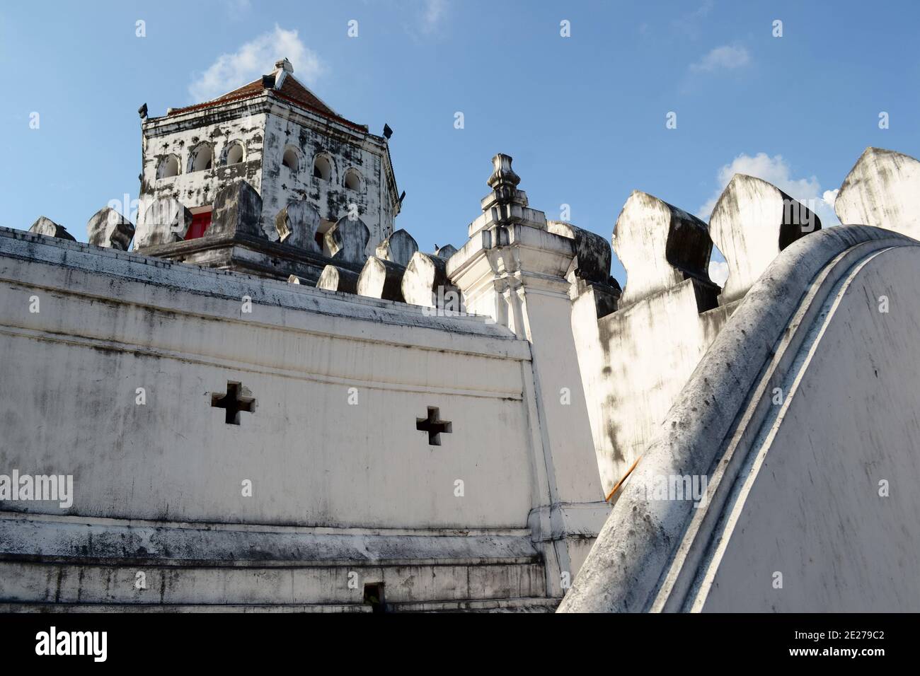
[[[137,589],[140,580],[143,589]],[[0,602],[121,606],[327,606],[364,602],[384,585],[388,604],[457,603],[546,596],[540,562],[460,564],[135,566],[0,560]],[[445,606],[445,609],[450,610]],[[306,611],[297,611],[306,612]]]

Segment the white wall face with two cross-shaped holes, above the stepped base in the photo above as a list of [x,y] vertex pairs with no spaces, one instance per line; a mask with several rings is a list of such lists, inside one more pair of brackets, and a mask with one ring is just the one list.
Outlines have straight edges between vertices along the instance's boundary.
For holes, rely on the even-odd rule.
[[[66,513],[526,527],[530,350],[507,329],[95,247],[4,246],[73,266],[0,256],[3,471],[73,474]],[[255,299],[251,315],[227,297],[240,291]],[[228,380],[257,399],[238,427],[210,406]],[[428,406],[453,423],[441,446],[415,429]],[[0,509],[24,508],[61,513]]]

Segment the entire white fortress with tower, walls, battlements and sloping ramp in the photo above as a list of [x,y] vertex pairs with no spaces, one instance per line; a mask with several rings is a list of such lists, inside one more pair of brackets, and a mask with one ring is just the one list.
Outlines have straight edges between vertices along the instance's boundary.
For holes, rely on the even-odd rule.
[[286,61],[142,128],[136,232],[0,229],[0,610],[920,610],[913,158],[612,251],[496,155],[423,253]]

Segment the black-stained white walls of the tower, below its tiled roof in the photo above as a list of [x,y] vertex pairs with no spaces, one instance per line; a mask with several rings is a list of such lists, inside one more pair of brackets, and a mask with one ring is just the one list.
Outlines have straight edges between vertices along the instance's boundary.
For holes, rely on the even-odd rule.
[[[144,166],[138,208],[138,243],[149,239],[147,210],[155,200],[175,199],[195,212],[211,208],[220,189],[245,180],[262,199],[264,236],[277,241],[276,218],[288,204],[306,201],[319,213],[320,234],[342,218],[366,223],[370,238],[365,253],[394,231],[398,212],[396,184],[386,141],[344,123],[308,114],[268,94],[145,120]],[[228,164],[228,151],[243,148],[242,161]],[[204,150],[211,168],[196,168]],[[285,152],[295,155],[284,164]],[[328,161],[328,178],[314,176],[314,161]],[[163,176],[164,163],[175,158],[177,176]],[[327,251],[327,253],[329,253]]]

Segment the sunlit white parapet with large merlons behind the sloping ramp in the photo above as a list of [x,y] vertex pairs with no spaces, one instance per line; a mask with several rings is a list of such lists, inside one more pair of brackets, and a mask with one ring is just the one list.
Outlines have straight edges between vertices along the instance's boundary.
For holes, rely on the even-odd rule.
[[[904,235],[920,225],[920,163],[868,148],[836,200],[843,223]],[[627,284],[614,312],[594,320],[592,290],[572,288],[572,332],[605,491],[628,475],[696,366],[753,285],[788,246],[820,231],[808,206],[761,178],[735,175],[709,223],[633,192],[615,223]],[[711,237],[711,239],[710,239]],[[713,243],[728,267],[719,290]]]

